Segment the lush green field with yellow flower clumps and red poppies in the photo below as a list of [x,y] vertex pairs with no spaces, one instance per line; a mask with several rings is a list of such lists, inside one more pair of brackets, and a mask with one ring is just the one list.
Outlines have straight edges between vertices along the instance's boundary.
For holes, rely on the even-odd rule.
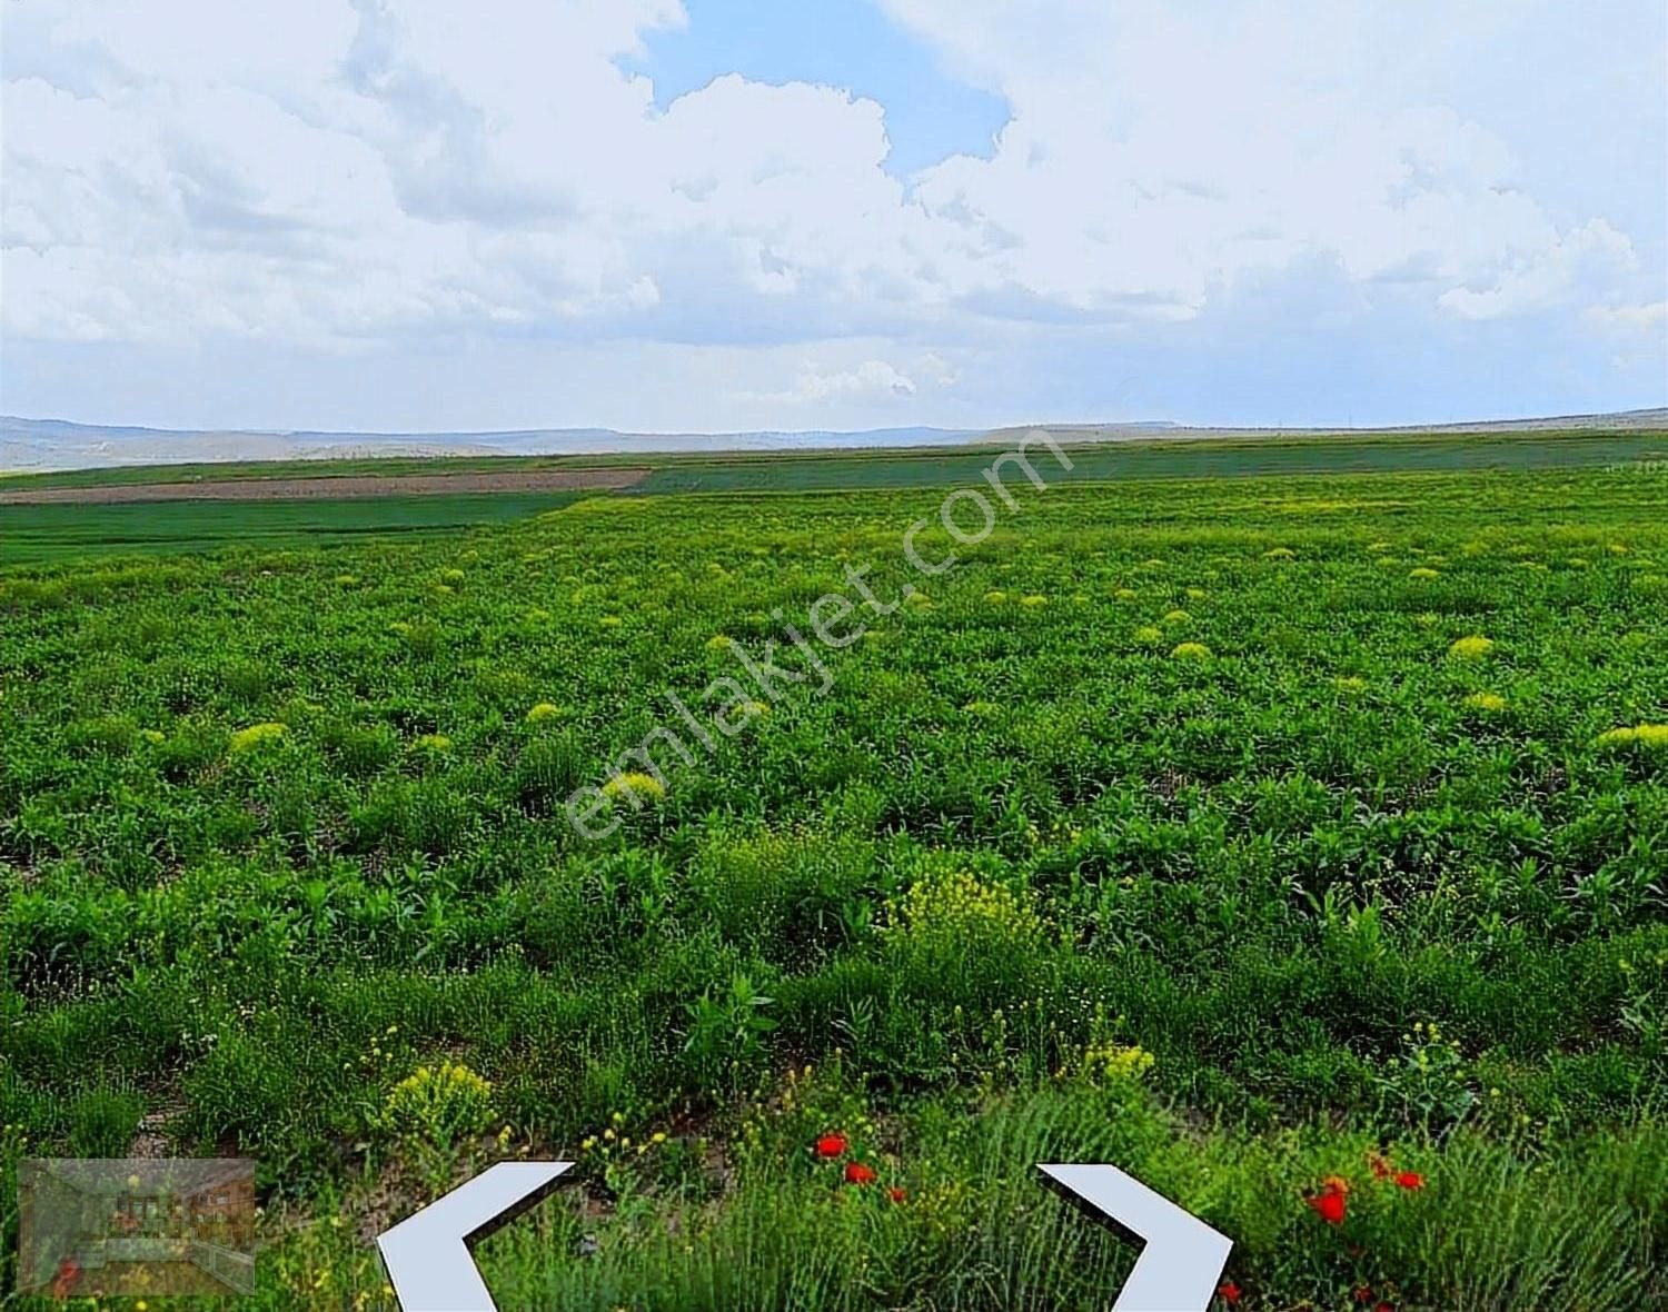
[[374,1234],[572,1155],[505,1312],[1041,1310],[1133,1250],[1032,1164],[1108,1160],[1234,1240],[1219,1307],[1661,1305],[1668,477],[1419,450],[1108,453],[932,578],[967,457],[7,570],[0,1190],[249,1154],[249,1305],[389,1309]]

